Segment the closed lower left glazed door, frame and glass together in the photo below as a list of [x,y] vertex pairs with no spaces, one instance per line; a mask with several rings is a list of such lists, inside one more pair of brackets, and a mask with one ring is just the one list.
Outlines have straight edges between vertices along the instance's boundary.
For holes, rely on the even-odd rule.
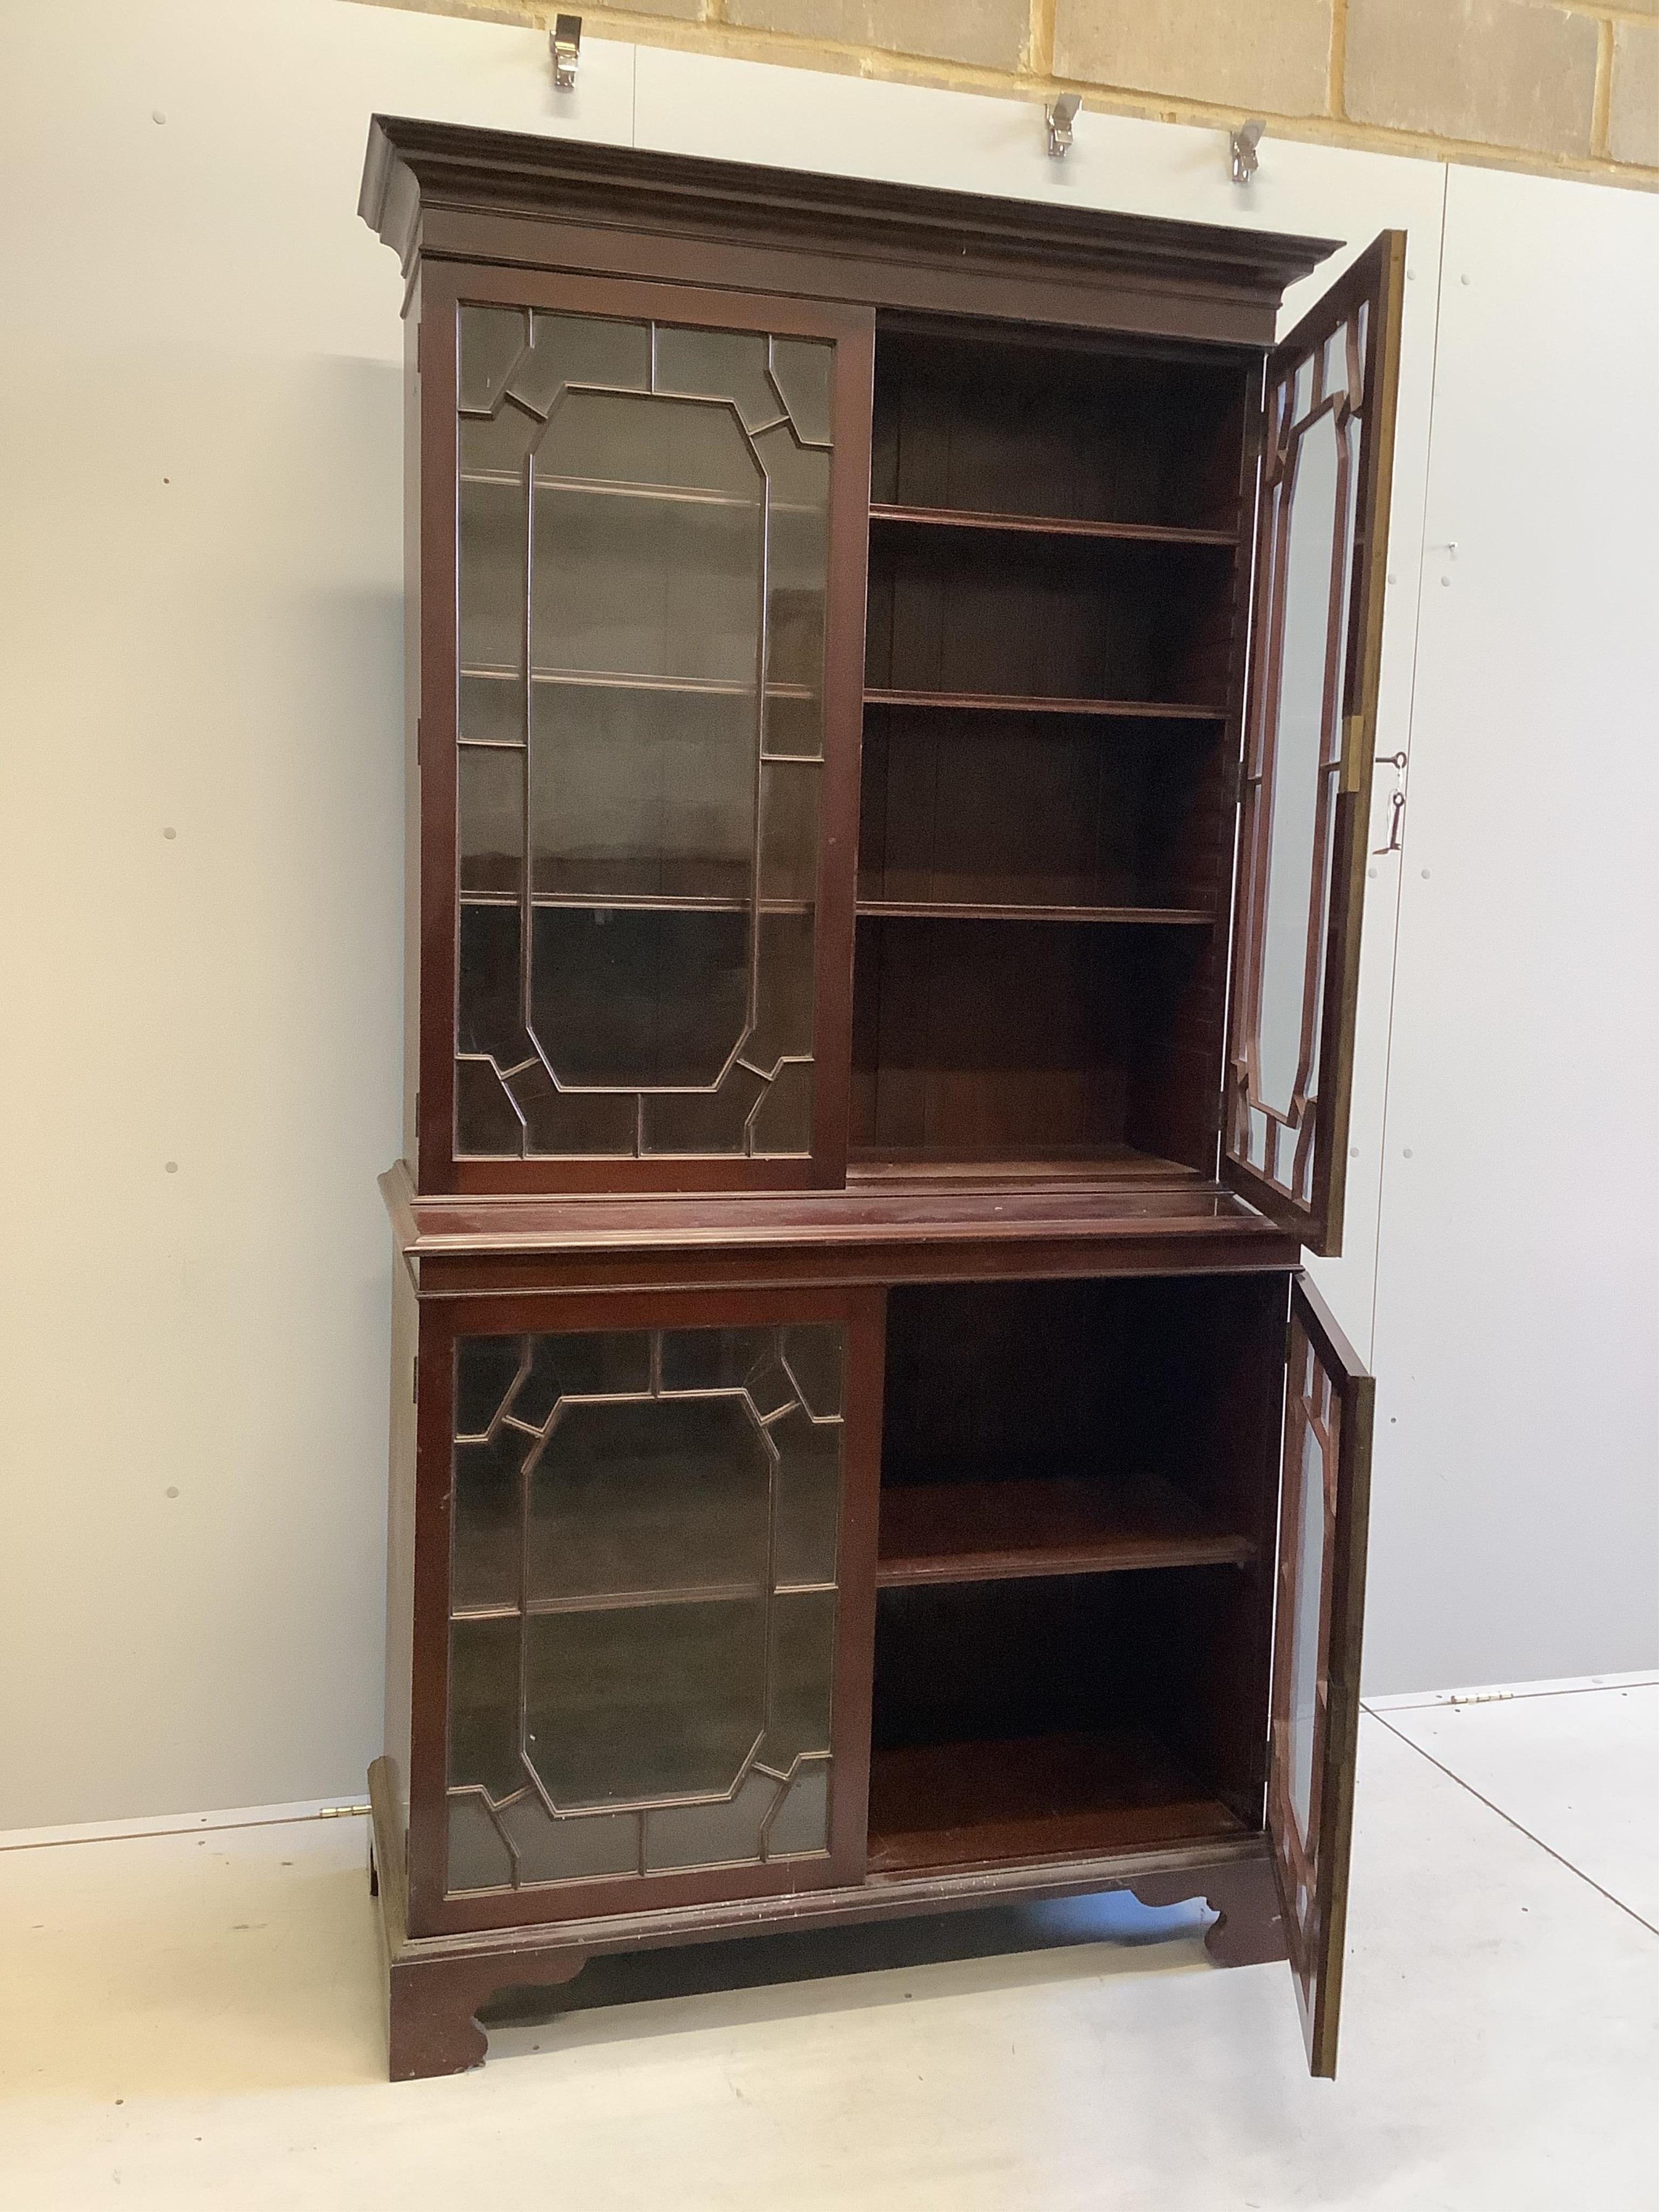
[[880,1303],[422,1314],[414,1927],[863,1878]]

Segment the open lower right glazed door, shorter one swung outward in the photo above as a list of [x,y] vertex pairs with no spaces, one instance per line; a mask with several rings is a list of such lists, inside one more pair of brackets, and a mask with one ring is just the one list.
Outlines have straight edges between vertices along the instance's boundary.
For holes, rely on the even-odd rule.
[[1354,1347],[1298,1274],[1279,1491],[1267,1834],[1316,2075],[1336,2073],[1343,1997],[1374,1396]]

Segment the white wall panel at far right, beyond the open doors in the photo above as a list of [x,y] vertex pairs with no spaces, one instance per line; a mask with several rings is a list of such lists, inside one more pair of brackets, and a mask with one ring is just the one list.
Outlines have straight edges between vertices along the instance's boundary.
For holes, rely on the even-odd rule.
[[1659,1652],[1659,201],[1451,170],[1427,540],[1376,1690]]

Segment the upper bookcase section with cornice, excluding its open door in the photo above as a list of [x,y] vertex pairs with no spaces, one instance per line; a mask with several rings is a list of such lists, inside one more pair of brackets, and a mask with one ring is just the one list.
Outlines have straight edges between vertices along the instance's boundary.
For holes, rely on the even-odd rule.
[[1325,248],[405,122],[363,215],[416,1188],[1212,1177],[1261,361]]

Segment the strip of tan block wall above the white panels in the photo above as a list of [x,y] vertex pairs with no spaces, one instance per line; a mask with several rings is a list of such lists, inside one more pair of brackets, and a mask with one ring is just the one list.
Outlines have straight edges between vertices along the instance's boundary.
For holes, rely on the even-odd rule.
[[[540,0],[369,0],[542,24]],[[573,0],[564,0],[566,7]],[[1659,0],[628,0],[593,31],[794,69],[1659,190]],[[743,148],[732,153],[741,157]]]

